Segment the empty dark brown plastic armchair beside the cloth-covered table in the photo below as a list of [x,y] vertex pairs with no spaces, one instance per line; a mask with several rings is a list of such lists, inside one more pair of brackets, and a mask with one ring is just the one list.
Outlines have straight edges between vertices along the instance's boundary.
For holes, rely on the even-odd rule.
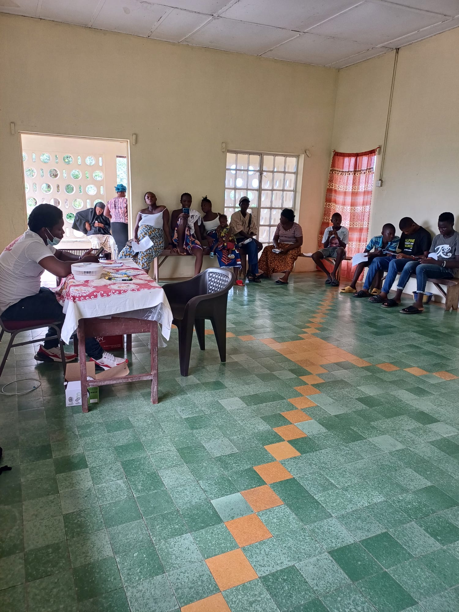
[[193,326],[201,351],[206,348],[204,319],[210,319],[220,360],[226,361],[226,304],[234,285],[234,274],[226,268],[208,268],[190,280],[163,285],[179,330],[180,373],[188,376]]

